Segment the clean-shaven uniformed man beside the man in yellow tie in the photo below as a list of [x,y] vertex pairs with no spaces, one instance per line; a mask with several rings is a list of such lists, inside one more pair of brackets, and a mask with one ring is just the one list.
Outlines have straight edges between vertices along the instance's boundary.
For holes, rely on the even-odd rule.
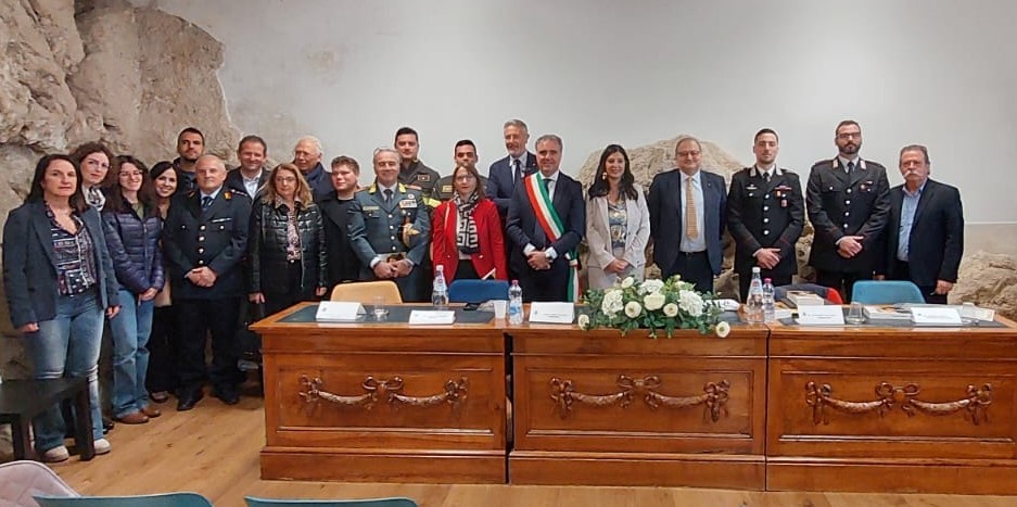
[[805,202],[798,175],[777,167],[777,132],[755,132],[755,165],[735,173],[727,192],[727,230],[735,239],[735,272],[747,301],[752,267],[774,286],[791,283],[798,272],[794,243],[802,233]]

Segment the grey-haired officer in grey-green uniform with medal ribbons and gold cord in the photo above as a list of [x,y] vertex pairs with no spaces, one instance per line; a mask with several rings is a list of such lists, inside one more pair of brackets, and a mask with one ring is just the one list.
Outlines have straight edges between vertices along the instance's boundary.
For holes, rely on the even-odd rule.
[[395,280],[403,301],[428,301],[420,265],[431,243],[431,218],[420,190],[399,182],[399,153],[374,150],[374,182],[349,206],[349,242],[365,280]]

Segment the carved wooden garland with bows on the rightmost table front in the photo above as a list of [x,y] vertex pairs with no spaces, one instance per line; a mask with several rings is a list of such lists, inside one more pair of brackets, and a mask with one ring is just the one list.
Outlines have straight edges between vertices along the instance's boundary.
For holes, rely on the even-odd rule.
[[989,383],[982,384],[981,388],[968,385],[966,397],[943,403],[918,400],[920,389],[916,383],[899,386],[889,382],[880,382],[876,385],[875,391],[877,400],[848,402],[835,398],[832,396],[834,388],[828,383],[817,385],[815,382],[808,382],[805,384],[805,403],[812,407],[812,422],[817,426],[830,423],[827,407],[847,414],[875,411],[879,417],[883,417],[894,406],[901,407],[901,410],[908,417],[915,416],[918,411],[931,416],[946,416],[966,410],[965,418],[969,419],[972,424],[978,426],[989,420],[989,405],[992,404],[992,385]]

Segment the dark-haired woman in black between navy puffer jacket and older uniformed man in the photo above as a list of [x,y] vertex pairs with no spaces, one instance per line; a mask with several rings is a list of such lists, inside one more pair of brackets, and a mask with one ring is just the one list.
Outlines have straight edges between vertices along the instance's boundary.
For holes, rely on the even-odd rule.
[[[160,220],[166,220],[169,213],[169,202],[177,193],[177,169],[173,163],[162,161],[152,166],[149,179],[155,190],[155,207]],[[160,243],[162,252],[162,243]],[[163,266],[163,272],[166,272]],[[165,278],[165,277],[164,277]],[[145,375],[145,384],[149,390],[149,400],[163,403],[169,400],[169,393],[178,388],[176,366],[174,365],[177,351],[177,316],[174,314],[173,300],[169,295],[169,280],[163,283],[153,301],[152,333],[149,337],[149,369]]]

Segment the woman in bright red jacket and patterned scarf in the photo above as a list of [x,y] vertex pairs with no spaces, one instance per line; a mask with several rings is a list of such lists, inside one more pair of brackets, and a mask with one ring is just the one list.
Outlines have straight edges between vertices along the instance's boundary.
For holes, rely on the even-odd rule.
[[484,195],[480,175],[472,165],[453,172],[456,193],[431,216],[431,258],[445,267],[445,279],[507,280],[505,241],[495,203]]

